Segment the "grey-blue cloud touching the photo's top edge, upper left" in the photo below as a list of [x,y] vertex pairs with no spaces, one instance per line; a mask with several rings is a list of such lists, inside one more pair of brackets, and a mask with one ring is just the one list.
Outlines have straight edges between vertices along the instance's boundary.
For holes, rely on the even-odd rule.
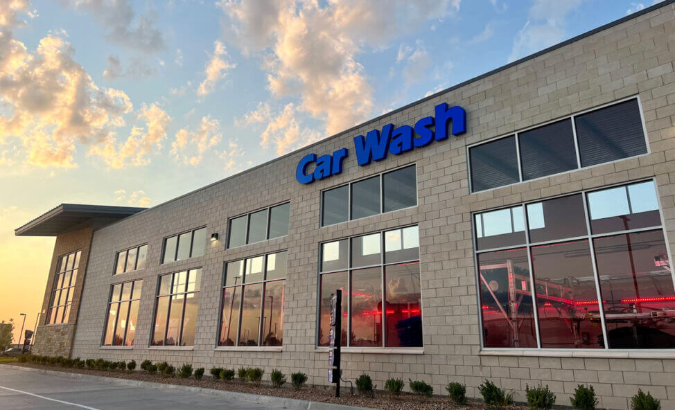
[[164,48],[164,36],[154,26],[155,15],[136,17],[129,0],[62,0],[62,3],[91,14],[107,30],[107,38],[125,48],[143,53],[156,53]]

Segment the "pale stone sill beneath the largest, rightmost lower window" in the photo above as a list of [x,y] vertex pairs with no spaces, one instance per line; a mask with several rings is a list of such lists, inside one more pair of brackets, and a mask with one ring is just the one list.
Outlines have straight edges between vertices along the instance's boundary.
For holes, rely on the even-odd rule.
[[520,356],[520,357],[581,357],[581,358],[617,358],[617,359],[675,359],[675,350],[525,350],[500,349],[480,350],[480,356]]

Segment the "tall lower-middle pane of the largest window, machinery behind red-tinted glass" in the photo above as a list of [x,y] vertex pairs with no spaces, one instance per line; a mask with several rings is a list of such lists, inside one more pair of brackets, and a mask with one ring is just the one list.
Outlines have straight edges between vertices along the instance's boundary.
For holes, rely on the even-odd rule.
[[532,270],[541,347],[604,348],[588,240],[532,247]]

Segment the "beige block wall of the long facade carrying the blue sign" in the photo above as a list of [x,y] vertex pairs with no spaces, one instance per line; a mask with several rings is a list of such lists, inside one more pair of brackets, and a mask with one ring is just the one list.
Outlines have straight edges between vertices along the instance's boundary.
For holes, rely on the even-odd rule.
[[[468,395],[484,378],[516,391],[523,400],[525,384],[548,384],[559,404],[579,383],[592,383],[602,407],[627,409],[638,388],[675,408],[675,354],[642,358],[600,352],[588,357],[557,353],[496,355],[481,352],[476,302],[471,212],[572,193],[586,188],[654,177],[670,246],[675,238],[675,20],[672,6],[647,12],[577,42],[527,60],[300,150],[144,211],[96,231],[91,245],[87,287],[82,294],[73,355],[110,359],[168,360],[195,366],[263,366],[285,373],[302,369],[314,384],[327,384],[328,355],[315,350],[318,244],[324,240],[419,224],[423,293],[423,355],[344,353],[344,377],[374,376],[383,386],[388,377],[426,380],[437,393],[450,381],[468,386]],[[649,154],[616,163],[470,194],[466,146],[550,121],[604,103],[639,96],[644,111]],[[356,165],[354,136],[386,123],[412,125],[432,115],[435,105],[462,105],[468,132],[426,148],[369,166]],[[308,152],[331,153],[348,147],[342,175],[304,186],[295,181],[297,161]],[[378,172],[417,164],[416,208],[319,228],[319,191]],[[207,252],[159,265],[162,238],[207,224],[208,233],[226,237],[229,217],[290,200],[290,231],[284,238],[237,249],[225,240],[207,244]],[[148,242],[148,267],[113,276],[115,251]],[[288,278],[283,351],[243,352],[215,349],[222,264],[247,256],[288,249]],[[148,349],[157,275],[202,267],[202,294],[193,350]],[[133,349],[103,349],[100,341],[107,295],[112,283],[143,279],[143,294]],[[638,357],[640,353],[633,357]]]

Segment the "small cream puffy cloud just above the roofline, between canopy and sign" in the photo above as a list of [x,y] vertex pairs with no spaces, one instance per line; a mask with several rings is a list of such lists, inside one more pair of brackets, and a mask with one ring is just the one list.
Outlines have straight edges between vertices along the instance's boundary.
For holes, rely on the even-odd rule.
[[171,143],[171,154],[183,163],[198,166],[204,152],[218,145],[221,139],[220,121],[204,116],[196,131],[181,128],[176,132],[175,140]]

